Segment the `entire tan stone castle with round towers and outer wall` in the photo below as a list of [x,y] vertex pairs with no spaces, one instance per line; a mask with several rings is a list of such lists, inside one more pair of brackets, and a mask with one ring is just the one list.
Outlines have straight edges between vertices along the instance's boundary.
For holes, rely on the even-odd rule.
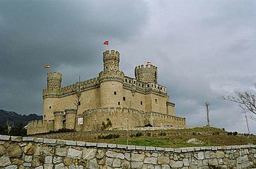
[[136,66],[132,78],[120,71],[119,63],[120,53],[107,50],[98,77],[66,87],[61,73],[48,73],[42,91],[43,120],[28,123],[28,134],[186,126],[185,118],[175,116],[166,87],[158,84],[155,65]]

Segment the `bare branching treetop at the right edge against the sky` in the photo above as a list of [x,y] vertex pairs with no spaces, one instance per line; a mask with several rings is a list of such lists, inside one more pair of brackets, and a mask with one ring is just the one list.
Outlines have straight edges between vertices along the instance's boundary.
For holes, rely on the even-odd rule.
[[[256,87],[256,85],[255,85]],[[236,96],[222,96],[223,100],[233,101],[246,112],[256,115],[256,94],[252,92],[235,92]]]

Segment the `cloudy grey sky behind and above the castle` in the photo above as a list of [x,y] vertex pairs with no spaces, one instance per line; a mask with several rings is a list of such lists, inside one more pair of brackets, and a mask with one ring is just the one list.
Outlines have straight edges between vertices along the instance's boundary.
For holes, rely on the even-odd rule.
[[[151,61],[187,125],[247,132],[240,108],[221,96],[255,92],[256,1],[0,1],[0,108],[42,114],[47,70],[62,85],[97,77],[102,53],[120,69]],[[256,121],[250,129],[256,134]]]

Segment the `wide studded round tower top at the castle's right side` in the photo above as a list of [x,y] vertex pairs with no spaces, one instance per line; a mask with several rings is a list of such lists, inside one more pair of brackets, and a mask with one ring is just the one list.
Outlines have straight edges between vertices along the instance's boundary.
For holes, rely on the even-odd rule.
[[146,64],[139,65],[134,68],[134,74],[136,80],[141,82],[155,82],[157,83],[157,67],[155,65]]

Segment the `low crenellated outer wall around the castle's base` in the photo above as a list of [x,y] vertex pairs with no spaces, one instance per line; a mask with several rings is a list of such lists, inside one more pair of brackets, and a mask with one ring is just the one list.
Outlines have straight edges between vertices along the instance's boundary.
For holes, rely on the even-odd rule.
[[134,108],[121,107],[93,108],[84,111],[83,115],[78,115],[78,118],[83,119],[83,123],[78,124],[78,120],[75,120],[75,111],[75,109],[55,111],[54,120],[51,121],[30,121],[28,123],[27,134],[47,133],[61,129],[76,130],[77,132],[86,132],[92,129],[105,130],[102,129],[102,127],[103,123],[107,123],[107,120],[110,120],[112,123],[109,127],[110,130],[123,130],[127,129],[127,127],[141,127],[149,124],[158,127],[186,127],[185,118],[157,112],[145,113],[144,111],[138,111]]

